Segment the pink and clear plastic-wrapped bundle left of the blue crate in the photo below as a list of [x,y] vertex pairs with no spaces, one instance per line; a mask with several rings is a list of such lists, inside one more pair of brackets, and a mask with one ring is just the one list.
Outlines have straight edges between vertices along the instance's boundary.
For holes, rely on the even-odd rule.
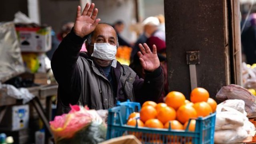
[[55,144],[98,144],[106,139],[106,124],[96,110],[70,105],[70,112],[50,122]]

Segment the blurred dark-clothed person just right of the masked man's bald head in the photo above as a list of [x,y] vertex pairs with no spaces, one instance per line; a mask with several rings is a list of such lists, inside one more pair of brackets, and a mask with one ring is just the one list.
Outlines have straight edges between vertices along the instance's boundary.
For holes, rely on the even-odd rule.
[[118,20],[117,22],[115,22],[114,29],[116,30],[116,34],[118,37],[118,44],[120,46],[132,47],[128,42],[126,42],[126,40],[122,38],[122,36],[120,36],[120,33],[124,31],[124,22],[122,22],[121,20]]

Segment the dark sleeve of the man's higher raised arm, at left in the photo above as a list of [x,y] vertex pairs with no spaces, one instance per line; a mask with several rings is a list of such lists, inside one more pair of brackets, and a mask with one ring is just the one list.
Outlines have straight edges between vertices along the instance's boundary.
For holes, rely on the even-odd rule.
[[52,56],[51,66],[58,82],[58,96],[66,106],[76,104],[80,96],[80,74],[76,62],[85,39],[71,30]]

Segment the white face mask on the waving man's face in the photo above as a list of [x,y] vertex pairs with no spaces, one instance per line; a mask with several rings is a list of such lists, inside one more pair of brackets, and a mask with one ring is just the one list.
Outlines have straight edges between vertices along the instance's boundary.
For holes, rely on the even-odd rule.
[[109,43],[94,43],[92,57],[102,60],[116,59],[116,46]]

